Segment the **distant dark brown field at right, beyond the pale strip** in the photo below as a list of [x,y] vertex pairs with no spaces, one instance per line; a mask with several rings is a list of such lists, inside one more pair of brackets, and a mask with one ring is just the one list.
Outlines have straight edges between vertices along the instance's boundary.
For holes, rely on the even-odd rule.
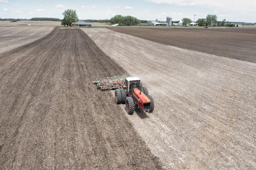
[[[193,51],[256,63],[255,28],[168,29],[109,27],[115,32]],[[159,51],[161,55],[161,51]]]

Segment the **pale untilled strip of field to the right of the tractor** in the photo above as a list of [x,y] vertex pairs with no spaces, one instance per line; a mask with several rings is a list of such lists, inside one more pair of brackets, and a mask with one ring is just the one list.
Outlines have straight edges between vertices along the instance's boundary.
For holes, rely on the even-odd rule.
[[167,169],[255,169],[256,63],[83,31],[148,87],[153,113],[121,111]]

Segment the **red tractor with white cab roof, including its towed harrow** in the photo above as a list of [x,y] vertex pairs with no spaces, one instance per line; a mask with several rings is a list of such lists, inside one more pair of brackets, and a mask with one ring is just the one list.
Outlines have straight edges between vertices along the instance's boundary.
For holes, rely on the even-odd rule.
[[[125,79],[125,81],[124,81]],[[153,112],[154,100],[147,90],[143,87],[138,77],[105,77],[93,81],[98,89],[115,89],[115,102],[125,104],[126,112],[132,115],[135,106],[141,112]]]

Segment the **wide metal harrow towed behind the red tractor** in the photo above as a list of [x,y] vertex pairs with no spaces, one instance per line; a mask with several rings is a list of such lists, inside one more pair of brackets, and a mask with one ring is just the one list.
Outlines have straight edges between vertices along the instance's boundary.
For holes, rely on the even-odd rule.
[[118,89],[125,84],[125,77],[127,76],[104,77],[103,79],[96,79],[96,81],[92,81],[92,83],[96,84],[97,89],[101,90]]

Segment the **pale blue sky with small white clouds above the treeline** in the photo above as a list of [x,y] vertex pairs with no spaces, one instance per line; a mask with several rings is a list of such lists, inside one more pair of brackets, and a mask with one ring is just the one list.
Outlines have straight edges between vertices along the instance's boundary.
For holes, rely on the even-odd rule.
[[66,9],[77,11],[80,20],[103,20],[121,14],[140,20],[173,21],[206,18],[218,21],[256,22],[256,0],[0,0],[0,18],[51,17],[62,19]]

